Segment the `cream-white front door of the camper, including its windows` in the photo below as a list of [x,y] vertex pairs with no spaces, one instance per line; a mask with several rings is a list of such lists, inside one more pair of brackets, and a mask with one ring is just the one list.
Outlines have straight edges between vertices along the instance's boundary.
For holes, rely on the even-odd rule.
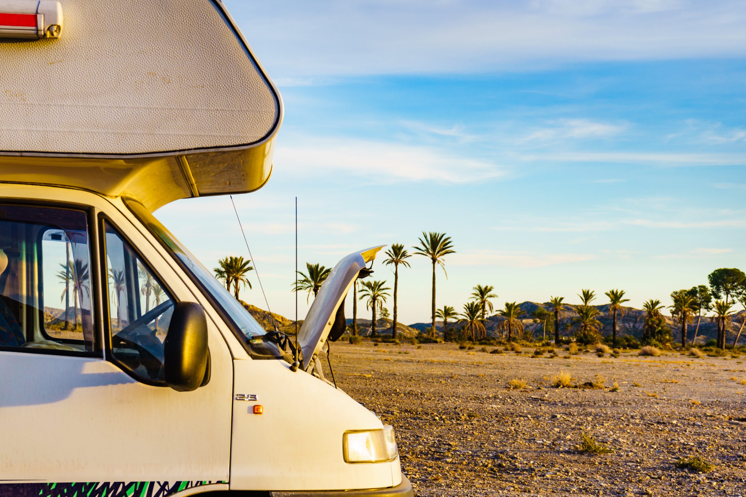
[[[0,200],[0,496],[227,488],[232,365],[163,381],[176,301],[195,301],[123,216]],[[28,495],[31,495],[28,493]]]

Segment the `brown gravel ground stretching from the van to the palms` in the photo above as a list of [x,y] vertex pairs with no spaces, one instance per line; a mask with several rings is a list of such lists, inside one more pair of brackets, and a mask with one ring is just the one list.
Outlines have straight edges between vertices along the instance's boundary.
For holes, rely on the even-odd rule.
[[[416,496],[746,497],[744,359],[479,348],[332,347],[339,387],[395,426]],[[600,375],[605,388],[552,387],[560,372],[573,384]],[[511,390],[513,379],[526,387]],[[581,453],[583,433],[614,452]],[[692,455],[715,469],[674,466]]]

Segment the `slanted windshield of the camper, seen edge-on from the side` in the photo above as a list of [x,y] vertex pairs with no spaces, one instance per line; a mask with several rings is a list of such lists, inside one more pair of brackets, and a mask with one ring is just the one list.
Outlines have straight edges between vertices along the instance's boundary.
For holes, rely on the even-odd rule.
[[266,331],[251,316],[243,305],[234,298],[228,290],[213,276],[206,267],[192,255],[184,245],[181,244],[154,216],[135,201],[126,201],[126,204],[140,221],[148,227],[161,243],[175,256],[186,272],[201,287],[201,290],[222,311],[228,325],[233,332],[244,338],[251,352],[260,356],[283,357],[283,351],[269,340],[264,340]]

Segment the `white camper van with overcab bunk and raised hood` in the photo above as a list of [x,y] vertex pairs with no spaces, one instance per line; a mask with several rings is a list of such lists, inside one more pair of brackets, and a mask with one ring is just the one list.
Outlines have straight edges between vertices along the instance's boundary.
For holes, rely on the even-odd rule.
[[257,190],[283,107],[219,0],[0,0],[0,496],[412,496],[319,355],[376,252],[266,331],[152,212]]

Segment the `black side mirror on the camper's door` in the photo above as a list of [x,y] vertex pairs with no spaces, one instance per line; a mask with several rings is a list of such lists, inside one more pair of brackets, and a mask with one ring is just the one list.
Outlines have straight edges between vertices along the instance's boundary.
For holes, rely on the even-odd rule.
[[196,390],[210,374],[208,360],[207,318],[202,306],[178,302],[163,343],[166,384],[179,392]]

